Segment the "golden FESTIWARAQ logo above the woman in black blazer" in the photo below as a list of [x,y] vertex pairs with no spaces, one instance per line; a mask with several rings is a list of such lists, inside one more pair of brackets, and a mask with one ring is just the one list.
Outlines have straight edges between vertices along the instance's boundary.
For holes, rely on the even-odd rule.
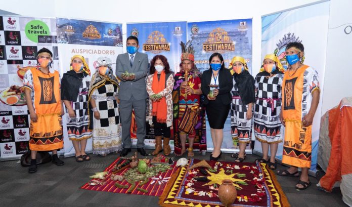
[[205,43],[203,43],[204,52],[218,52],[235,51],[235,43],[231,41],[227,31],[222,28],[215,28],[209,33]]

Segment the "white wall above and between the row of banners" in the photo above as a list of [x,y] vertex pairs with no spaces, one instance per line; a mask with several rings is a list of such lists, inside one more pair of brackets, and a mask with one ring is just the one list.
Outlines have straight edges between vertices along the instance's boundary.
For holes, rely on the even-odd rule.
[[[1,9],[23,16],[65,17],[123,23],[253,18],[253,74],[261,64],[261,16],[319,0],[0,0]],[[124,34],[125,38],[125,34]]]

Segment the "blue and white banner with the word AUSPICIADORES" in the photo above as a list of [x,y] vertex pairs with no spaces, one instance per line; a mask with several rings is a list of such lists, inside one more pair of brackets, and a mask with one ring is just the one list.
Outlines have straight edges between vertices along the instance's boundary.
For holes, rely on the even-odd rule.
[[[74,19],[56,19],[58,33],[58,49],[60,56],[61,75],[70,70],[71,57],[81,55],[91,70],[96,71],[96,60],[108,57],[112,61],[112,70],[116,70],[116,58],[122,53],[122,24],[84,21]],[[66,121],[63,116],[65,156],[75,155],[72,142],[67,136]],[[86,152],[92,151],[92,139],[87,141]]]

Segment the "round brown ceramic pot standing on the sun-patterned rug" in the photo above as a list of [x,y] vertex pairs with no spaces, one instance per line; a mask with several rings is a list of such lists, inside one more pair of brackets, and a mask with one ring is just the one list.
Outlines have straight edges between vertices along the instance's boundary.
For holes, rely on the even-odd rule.
[[236,187],[233,185],[232,180],[225,179],[218,190],[218,196],[220,201],[225,206],[230,206],[236,200],[237,191]]

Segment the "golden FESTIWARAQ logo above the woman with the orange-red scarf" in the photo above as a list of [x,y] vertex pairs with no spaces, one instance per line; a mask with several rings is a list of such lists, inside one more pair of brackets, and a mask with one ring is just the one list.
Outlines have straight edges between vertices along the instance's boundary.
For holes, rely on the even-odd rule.
[[153,31],[147,39],[147,43],[143,44],[143,50],[154,54],[162,51],[170,51],[170,44],[166,42],[164,35],[159,31]]

